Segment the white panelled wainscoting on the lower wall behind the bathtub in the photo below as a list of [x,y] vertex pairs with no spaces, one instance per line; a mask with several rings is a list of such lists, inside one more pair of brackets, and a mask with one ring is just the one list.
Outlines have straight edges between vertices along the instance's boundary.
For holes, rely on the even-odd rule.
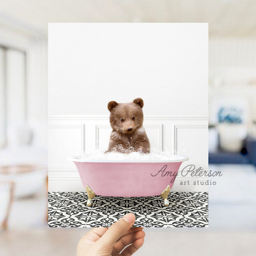
[[[208,170],[208,118],[144,116],[144,127],[151,148],[190,158],[182,163],[172,191],[208,191],[207,185],[197,182],[206,181],[206,177],[181,175],[181,170],[190,164]],[[107,115],[50,116],[49,191],[85,191],[74,163],[66,158],[97,148],[107,149],[111,131]]]

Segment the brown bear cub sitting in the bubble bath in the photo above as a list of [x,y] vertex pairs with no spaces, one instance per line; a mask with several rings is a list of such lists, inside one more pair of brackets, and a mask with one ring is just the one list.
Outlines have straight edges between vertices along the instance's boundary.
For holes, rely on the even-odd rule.
[[108,152],[121,152],[129,154],[132,151],[150,153],[150,144],[146,131],[143,127],[143,107],[141,98],[133,102],[117,103],[108,102],[110,111],[110,124],[112,132]]

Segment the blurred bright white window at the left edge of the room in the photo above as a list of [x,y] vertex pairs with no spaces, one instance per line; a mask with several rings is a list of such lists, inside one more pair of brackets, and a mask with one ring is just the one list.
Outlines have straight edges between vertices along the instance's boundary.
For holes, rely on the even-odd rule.
[[0,145],[4,146],[7,134],[27,119],[25,52],[0,48],[0,97]]

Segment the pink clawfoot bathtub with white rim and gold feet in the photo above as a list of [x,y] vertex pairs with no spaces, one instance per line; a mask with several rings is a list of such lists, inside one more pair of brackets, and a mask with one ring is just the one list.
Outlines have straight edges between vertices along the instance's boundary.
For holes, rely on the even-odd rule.
[[[96,195],[113,197],[158,196],[164,198],[172,188],[178,169],[186,156],[175,160],[124,161],[81,160],[69,157],[78,169],[81,181],[88,194],[87,205]],[[92,162],[93,161],[93,162]]]

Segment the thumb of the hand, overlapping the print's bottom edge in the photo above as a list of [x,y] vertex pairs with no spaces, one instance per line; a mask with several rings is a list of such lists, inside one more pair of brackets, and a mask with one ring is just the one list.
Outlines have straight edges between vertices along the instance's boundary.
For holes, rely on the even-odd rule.
[[111,246],[121,238],[134,224],[135,216],[133,213],[128,213],[117,222],[113,223],[106,233],[97,241],[99,247]]

